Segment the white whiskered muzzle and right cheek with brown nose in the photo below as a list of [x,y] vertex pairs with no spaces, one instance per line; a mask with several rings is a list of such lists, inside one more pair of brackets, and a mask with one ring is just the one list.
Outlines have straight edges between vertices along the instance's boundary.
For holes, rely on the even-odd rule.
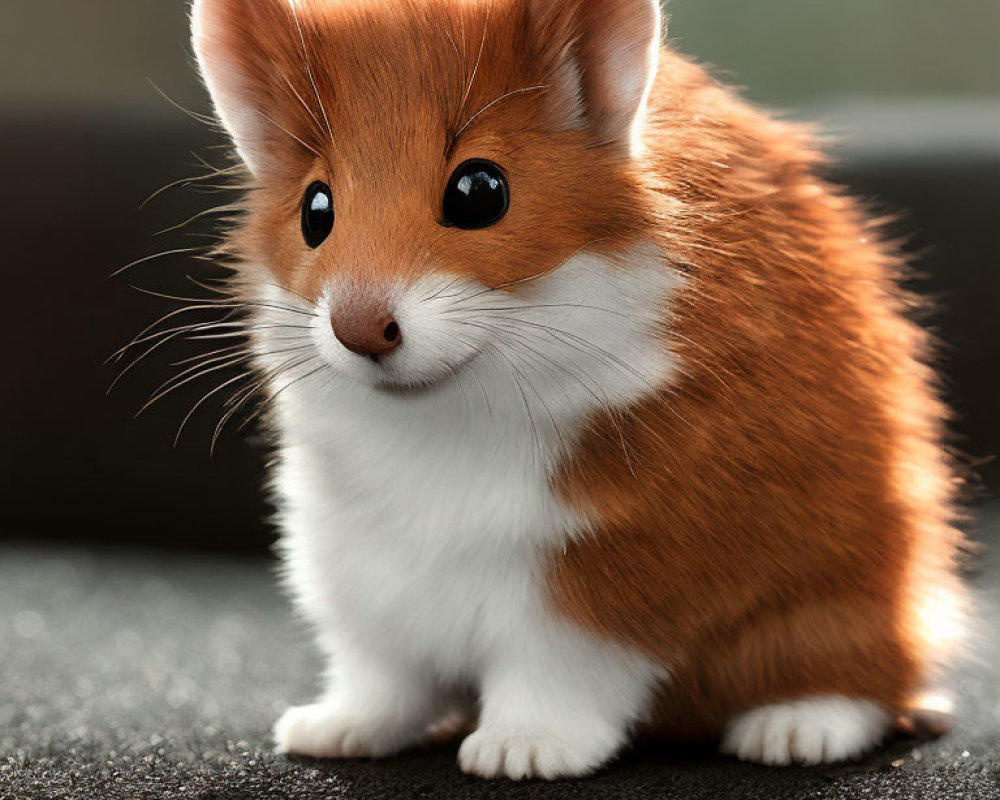
[[[527,411],[536,427],[576,424],[627,407],[675,374],[665,339],[669,297],[682,281],[652,244],[577,254],[511,290],[441,271],[383,288],[334,281],[311,308],[310,335],[329,369],[362,387],[455,383],[488,393],[481,399],[491,406]],[[281,291],[262,288],[272,302]],[[387,324],[397,346],[380,346]],[[368,349],[354,343],[366,337]]]

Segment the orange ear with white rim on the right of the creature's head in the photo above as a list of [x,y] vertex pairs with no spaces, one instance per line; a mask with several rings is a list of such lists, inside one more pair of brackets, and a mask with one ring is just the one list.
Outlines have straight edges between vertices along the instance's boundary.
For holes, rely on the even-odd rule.
[[531,0],[553,89],[570,126],[600,142],[641,147],[646,102],[659,61],[657,0]]

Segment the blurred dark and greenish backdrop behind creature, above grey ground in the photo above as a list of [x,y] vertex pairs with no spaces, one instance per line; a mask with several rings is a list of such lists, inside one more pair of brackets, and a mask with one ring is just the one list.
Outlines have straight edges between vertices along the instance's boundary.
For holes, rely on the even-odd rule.
[[[898,216],[938,298],[944,389],[979,497],[1000,487],[1000,2],[675,0],[670,36],[754,100],[837,136],[832,177]],[[155,235],[225,202],[183,179],[224,143],[177,106],[209,103],[181,0],[13,0],[0,29],[0,537],[262,551],[273,538],[252,426],[209,442],[210,382],[133,419],[184,357],[153,353],[115,388],[103,362],[190,294],[211,225]],[[159,87],[158,89],[154,87]],[[162,94],[161,94],[162,91]],[[171,98],[169,102],[163,95]],[[156,190],[181,181],[143,201]],[[213,184],[213,181],[207,183]]]

